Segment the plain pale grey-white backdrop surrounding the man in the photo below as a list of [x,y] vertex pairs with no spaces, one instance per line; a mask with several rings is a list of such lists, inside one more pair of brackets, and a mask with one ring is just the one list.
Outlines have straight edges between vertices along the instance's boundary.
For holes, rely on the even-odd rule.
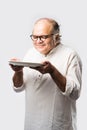
[[78,130],[87,129],[87,6],[86,0],[0,0],[0,130],[24,130],[25,96],[12,89],[12,57],[23,58],[29,35],[40,17],[60,24],[62,42],[78,51],[83,62],[83,84],[77,100]]

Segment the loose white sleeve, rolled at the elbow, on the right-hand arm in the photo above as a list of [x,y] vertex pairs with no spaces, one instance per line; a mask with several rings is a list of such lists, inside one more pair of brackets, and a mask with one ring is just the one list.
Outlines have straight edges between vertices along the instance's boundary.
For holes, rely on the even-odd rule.
[[66,90],[63,93],[69,98],[76,100],[80,96],[82,86],[82,62],[80,57],[73,53],[69,57],[66,73]]

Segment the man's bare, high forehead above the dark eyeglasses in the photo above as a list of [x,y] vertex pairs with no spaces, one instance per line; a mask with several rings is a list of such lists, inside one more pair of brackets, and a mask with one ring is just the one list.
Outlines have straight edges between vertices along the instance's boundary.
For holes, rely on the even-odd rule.
[[34,28],[33,28],[33,34],[50,34],[52,33],[53,26],[52,23],[46,21],[46,20],[41,20],[35,23]]

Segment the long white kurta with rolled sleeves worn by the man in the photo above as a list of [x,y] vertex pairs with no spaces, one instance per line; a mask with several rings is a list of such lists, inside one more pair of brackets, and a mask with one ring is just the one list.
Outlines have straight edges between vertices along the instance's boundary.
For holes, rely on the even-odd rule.
[[25,89],[25,130],[76,130],[76,100],[80,96],[82,75],[78,54],[60,44],[47,56],[33,48],[24,61],[50,61],[67,80],[66,91],[62,93],[50,74],[24,68],[24,86],[19,91]]

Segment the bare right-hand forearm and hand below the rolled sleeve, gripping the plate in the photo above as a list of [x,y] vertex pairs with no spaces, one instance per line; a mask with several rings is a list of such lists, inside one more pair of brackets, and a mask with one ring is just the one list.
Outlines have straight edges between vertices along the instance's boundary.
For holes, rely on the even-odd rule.
[[49,73],[60,90],[65,92],[66,78],[50,62],[45,61],[43,66],[33,69],[40,71],[42,74]]

